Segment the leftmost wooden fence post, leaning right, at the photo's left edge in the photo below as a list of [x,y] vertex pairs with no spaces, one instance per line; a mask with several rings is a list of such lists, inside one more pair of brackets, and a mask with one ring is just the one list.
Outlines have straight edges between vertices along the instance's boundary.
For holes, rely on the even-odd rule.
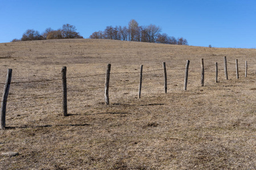
[[3,97],[1,102],[1,117],[0,117],[0,124],[1,124],[0,128],[2,130],[5,130],[6,104],[7,104],[7,98],[10,90],[12,72],[13,72],[12,69],[7,70],[5,88],[3,89]]

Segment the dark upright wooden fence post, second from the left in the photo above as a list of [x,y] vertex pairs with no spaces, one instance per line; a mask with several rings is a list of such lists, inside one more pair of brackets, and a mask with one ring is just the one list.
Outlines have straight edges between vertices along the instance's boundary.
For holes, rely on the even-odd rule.
[[68,116],[68,100],[67,100],[67,67],[62,67],[62,91],[63,91],[63,116]]

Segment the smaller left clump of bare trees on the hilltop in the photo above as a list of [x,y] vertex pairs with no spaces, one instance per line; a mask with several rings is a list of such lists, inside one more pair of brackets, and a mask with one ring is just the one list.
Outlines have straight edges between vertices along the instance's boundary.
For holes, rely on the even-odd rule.
[[79,32],[76,32],[76,27],[71,24],[64,24],[62,28],[54,30],[47,28],[42,34],[34,29],[27,29],[23,33],[21,39],[13,39],[15,41],[32,41],[32,40],[51,40],[51,39],[83,39]]

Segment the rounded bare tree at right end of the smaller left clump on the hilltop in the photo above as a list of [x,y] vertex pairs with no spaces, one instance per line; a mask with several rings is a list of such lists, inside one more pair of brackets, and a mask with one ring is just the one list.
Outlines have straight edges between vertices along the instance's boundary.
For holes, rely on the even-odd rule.
[[61,31],[64,39],[83,39],[79,32],[76,32],[76,27],[74,25],[64,24]]

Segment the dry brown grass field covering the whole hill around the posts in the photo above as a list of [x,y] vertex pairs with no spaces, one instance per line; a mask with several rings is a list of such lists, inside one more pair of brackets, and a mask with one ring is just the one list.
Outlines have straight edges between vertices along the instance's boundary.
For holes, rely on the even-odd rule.
[[[0,169],[256,169],[256,49],[42,40],[1,43],[0,61],[1,97],[7,69],[13,69],[0,154],[18,152],[0,155]],[[108,63],[110,105],[105,105]],[[142,97],[137,99],[141,64]],[[67,117],[62,116],[63,66]]]

